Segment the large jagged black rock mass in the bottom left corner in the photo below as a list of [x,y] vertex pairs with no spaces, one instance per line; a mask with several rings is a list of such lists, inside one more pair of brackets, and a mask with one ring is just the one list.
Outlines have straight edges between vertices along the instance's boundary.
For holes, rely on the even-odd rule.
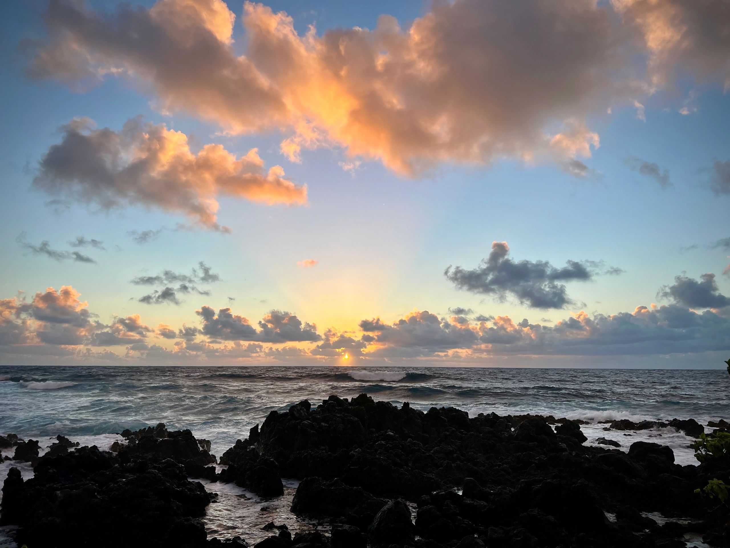
[[129,538],[110,534],[120,523],[140,544],[202,547],[206,533],[197,519],[210,502],[199,482],[188,480],[172,460],[123,463],[96,446],[39,461],[24,482],[18,505],[18,544],[127,547]]

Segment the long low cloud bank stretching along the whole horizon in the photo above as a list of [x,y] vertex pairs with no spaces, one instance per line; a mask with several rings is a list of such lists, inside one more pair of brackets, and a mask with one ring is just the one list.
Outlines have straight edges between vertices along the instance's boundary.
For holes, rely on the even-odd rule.
[[[23,294],[0,300],[0,357],[14,362],[50,358],[215,364],[296,359],[318,364],[349,354],[363,365],[423,358],[455,364],[511,355],[666,355],[730,348],[730,297],[718,291],[713,275],[702,275],[700,281],[679,275],[659,292],[668,304],[639,305],[633,312],[610,315],[580,311],[553,326],[509,316],[468,316],[473,311],[455,308],[451,316],[415,310],[393,322],[363,319],[358,332],[331,327],[320,334],[316,324],[292,313],[272,310],[256,327],[231,308],[216,312],[207,305],[195,311],[199,327],[183,324],[175,331],[160,324],[153,329],[139,314],[115,316],[104,324],[72,286],[58,291],[49,287],[31,302]],[[172,349],[161,344],[164,340],[175,340]],[[107,348],[93,350],[99,346]]]

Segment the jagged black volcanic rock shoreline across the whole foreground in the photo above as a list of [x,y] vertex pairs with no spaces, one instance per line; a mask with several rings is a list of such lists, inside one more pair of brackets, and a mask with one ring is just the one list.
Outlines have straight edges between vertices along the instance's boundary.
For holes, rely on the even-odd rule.
[[[194,480],[273,500],[282,478],[293,478],[301,482],[291,511],[323,520],[326,533],[292,536],[272,522],[255,546],[679,548],[689,533],[730,546],[728,506],[705,489],[713,480],[730,485],[730,446],[681,466],[659,444],[637,441],[628,453],[611,440],[586,446],[580,426],[553,416],[424,413],[363,394],[272,411],[220,458],[190,430],[164,425],[125,430],[126,443],[109,452],[59,435],[41,455],[38,441],[0,436],[0,449],[13,451],[6,460],[34,467],[26,480],[10,468],[0,525],[18,525],[18,545],[28,548],[100,539],[110,547],[248,546],[245,537],[207,537],[201,517],[215,494]],[[724,421],[708,426],[710,441],[730,435]],[[653,427],[694,438],[705,430],[692,419],[614,421],[604,430]]]

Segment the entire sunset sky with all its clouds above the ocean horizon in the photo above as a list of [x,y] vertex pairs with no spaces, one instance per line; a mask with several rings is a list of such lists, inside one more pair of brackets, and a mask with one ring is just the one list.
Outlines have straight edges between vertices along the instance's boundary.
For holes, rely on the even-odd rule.
[[0,364],[730,357],[728,0],[0,15]]

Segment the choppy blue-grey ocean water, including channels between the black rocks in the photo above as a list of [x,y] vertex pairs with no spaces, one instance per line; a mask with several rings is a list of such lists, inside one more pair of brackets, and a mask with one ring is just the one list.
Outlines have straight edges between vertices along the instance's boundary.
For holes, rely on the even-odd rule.
[[[209,439],[220,456],[272,410],[285,411],[305,398],[316,404],[331,394],[363,392],[424,411],[454,406],[471,416],[494,411],[584,419],[591,422],[581,427],[587,444],[603,436],[626,451],[634,441],[655,441],[672,447],[682,465],[697,464],[694,440],[683,433],[673,428],[604,431],[607,425],[600,421],[676,417],[706,425],[730,420],[725,370],[5,366],[0,367],[0,433],[38,439],[43,452],[58,434],[108,449],[125,428],[164,422],[171,430],[189,428]],[[0,463],[0,481],[10,465]],[[27,464],[12,465],[26,478],[33,475]],[[292,532],[327,530],[326,523],[291,514],[295,480],[286,480],[285,495],[273,500],[233,484],[202,483],[218,493],[204,517],[211,537],[242,535],[254,544],[269,535],[261,528],[272,520]],[[0,528],[0,547],[6,546],[15,546],[7,527]]]

